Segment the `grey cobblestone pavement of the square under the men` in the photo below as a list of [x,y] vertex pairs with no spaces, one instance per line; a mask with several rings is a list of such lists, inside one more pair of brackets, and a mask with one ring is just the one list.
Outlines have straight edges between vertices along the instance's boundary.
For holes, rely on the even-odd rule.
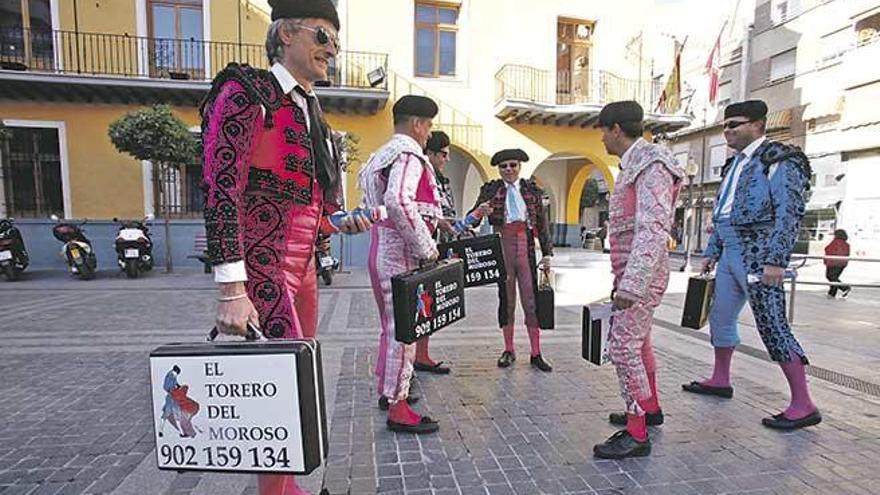
[[[564,260],[560,271],[572,283],[577,274],[565,273]],[[0,286],[0,494],[255,493],[252,476],[155,467],[147,353],[202,340],[213,312],[210,278],[102,275],[80,282],[36,273]],[[778,367],[760,352],[738,354],[734,400],[680,391],[711,362],[705,332],[675,325],[685,278],[673,279],[655,326],[667,419],[651,429],[654,453],[596,461],[592,446],[614,432],[607,414],[622,401],[613,369],[580,359],[579,306],[557,308],[557,329],[544,333],[553,373],[522,358],[525,332],[517,335],[521,359],[500,370],[495,292],[469,290],[467,319],[432,338],[432,354],[451,362],[453,373],[421,374],[414,385],[422,398],[416,408],[439,419],[441,430],[416,438],[385,429],[371,373],[375,305],[362,273],[338,277],[322,289],[319,328],[330,454],[327,467],[302,484],[332,495],[876,493],[880,397],[873,389],[814,375],[825,421],[784,434],[760,425],[787,397]],[[799,298],[796,332],[813,361],[878,383],[880,310],[870,294],[845,302],[820,293]],[[836,303],[847,306],[829,306]],[[759,348],[749,318],[744,342]]]

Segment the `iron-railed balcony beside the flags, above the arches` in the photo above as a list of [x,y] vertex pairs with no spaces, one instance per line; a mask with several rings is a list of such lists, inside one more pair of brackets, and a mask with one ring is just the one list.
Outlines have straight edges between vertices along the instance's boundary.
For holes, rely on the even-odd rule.
[[586,127],[602,106],[635,100],[650,130],[686,126],[682,116],[650,114],[659,94],[651,80],[626,79],[603,70],[551,71],[508,64],[495,74],[496,116],[508,123]]

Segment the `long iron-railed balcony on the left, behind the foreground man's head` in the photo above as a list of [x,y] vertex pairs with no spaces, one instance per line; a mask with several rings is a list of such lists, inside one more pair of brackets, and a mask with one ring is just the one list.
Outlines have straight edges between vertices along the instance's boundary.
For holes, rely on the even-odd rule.
[[[149,81],[158,88],[163,83],[200,82],[193,87],[204,91],[230,62],[269,67],[265,47],[252,43],[0,29],[0,77],[5,78],[14,78],[15,73],[122,78]],[[386,92],[387,65],[387,54],[343,51],[331,62],[329,81],[320,86],[324,92]]]

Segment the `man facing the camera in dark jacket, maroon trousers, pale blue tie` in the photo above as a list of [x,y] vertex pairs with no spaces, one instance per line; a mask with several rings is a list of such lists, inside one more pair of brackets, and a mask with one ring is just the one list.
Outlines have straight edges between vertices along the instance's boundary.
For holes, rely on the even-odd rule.
[[[533,180],[520,179],[522,164],[529,155],[520,149],[499,151],[492,156],[492,165],[498,167],[501,179],[483,184],[471,211],[480,209],[489,217],[489,224],[501,234],[507,280],[498,284],[498,325],[504,334],[504,352],[498,358],[498,367],[507,368],[516,360],[513,327],[516,314],[516,291],[519,285],[520,303],[526,318],[526,330],[531,345],[530,363],[543,372],[553,367],[541,354],[541,329],[537,315],[537,267],[550,269],[553,242],[544,209],[544,191]],[[541,262],[535,263],[535,238],[541,245]]]

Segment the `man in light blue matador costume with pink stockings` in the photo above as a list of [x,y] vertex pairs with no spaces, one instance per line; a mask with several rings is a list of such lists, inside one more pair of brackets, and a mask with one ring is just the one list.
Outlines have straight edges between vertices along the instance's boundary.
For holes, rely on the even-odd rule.
[[810,163],[800,149],[764,136],[767,105],[760,100],[724,110],[724,137],[736,150],[724,166],[713,211],[715,230],[704,272],[717,265],[709,315],[715,367],[712,377],[682,385],[687,392],[733,397],[730,364],[739,344],[737,318],[748,300],[761,340],[791,389],[788,408],[763,419],[769,428],[793,430],[822,421],[810,397],[806,353],[785,315],[782,279],[797,239],[809,189]]

